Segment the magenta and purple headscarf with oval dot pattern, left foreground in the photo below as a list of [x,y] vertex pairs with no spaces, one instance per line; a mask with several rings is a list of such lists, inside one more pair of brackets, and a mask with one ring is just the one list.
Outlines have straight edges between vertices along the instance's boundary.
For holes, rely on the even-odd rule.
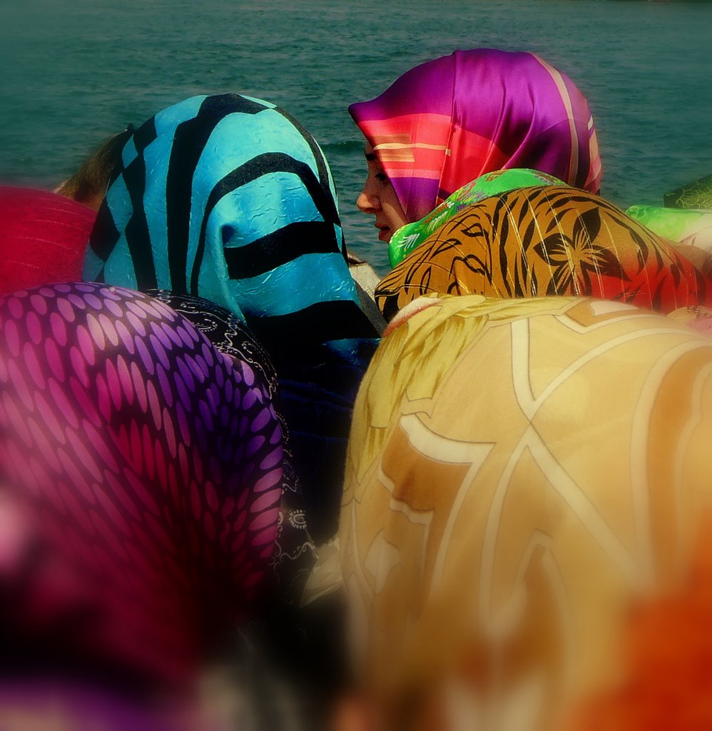
[[283,440],[261,371],[164,303],[0,298],[4,629],[186,681],[269,583]]

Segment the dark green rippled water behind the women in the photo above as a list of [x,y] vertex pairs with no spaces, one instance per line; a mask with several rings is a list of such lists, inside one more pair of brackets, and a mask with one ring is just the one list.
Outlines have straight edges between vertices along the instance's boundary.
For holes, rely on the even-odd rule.
[[[7,7],[7,5],[6,5]],[[105,136],[199,93],[286,107],[332,164],[350,246],[383,244],[353,201],[346,112],[456,48],[533,50],[589,97],[604,194],[656,203],[712,172],[712,4],[594,0],[29,0],[0,29],[0,178],[54,186]]]

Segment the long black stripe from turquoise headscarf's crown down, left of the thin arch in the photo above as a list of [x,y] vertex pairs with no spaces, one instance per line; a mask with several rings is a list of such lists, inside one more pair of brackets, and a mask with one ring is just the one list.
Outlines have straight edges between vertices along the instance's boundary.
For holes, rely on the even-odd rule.
[[237,94],[218,94],[204,99],[196,116],[177,126],[166,176],[166,237],[173,292],[188,292],[193,176],[205,145],[215,126],[227,115],[257,114],[269,108]]

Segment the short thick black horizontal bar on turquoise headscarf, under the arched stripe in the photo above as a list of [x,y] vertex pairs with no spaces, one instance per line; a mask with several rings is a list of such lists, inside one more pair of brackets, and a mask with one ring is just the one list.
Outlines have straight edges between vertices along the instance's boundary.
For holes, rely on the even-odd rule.
[[246,246],[223,249],[230,279],[249,279],[291,262],[302,254],[334,253],[334,226],[326,221],[296,221]]

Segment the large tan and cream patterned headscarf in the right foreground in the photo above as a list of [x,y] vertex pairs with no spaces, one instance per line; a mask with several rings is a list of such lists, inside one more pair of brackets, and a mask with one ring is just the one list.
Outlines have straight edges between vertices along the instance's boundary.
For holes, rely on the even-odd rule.
[[629,611],[684,588],[711,515],[711,398],[712,341],[621,303],[401,311],[356,402],[340,523],[383,727],[571,728],[624,681]]

